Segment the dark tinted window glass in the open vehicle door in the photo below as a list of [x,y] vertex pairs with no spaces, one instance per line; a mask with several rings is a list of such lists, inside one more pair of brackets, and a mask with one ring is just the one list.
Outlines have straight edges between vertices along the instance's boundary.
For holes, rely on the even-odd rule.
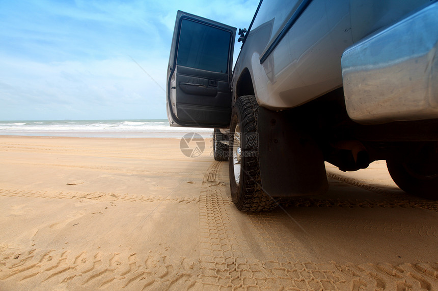
[[183,19],[177,64],[184,67],[227,73],[231,33]]

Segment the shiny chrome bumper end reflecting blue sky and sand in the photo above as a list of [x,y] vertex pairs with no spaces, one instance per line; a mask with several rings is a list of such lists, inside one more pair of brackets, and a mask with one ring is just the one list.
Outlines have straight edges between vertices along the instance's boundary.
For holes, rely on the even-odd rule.
[[354,44],[341,63],[354,121],[438,118],[438,3]]

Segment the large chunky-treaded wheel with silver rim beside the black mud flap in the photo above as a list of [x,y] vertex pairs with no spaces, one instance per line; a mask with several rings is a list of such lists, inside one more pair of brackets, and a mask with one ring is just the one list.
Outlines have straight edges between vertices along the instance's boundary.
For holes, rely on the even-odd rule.
[[230,123],[231,199],[237,209],[248,212],[266,211],[278,205],[261,187],[257,150],[258,110],[254,96],[241,96],[234,105]]

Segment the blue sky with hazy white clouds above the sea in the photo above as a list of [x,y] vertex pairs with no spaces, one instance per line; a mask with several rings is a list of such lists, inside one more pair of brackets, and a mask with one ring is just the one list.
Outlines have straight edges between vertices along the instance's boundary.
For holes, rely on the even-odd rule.
[[2,0],[0,120],[166,119],[177,10],[248,28],[258,2]]

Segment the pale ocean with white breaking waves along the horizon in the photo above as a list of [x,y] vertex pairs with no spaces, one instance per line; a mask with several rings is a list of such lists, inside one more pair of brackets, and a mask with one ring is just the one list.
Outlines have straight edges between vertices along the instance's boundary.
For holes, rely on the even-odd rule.
[[99,138],[212,137],[211,128],[171,127],[167,119],[0,121],[0,135]]

